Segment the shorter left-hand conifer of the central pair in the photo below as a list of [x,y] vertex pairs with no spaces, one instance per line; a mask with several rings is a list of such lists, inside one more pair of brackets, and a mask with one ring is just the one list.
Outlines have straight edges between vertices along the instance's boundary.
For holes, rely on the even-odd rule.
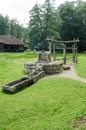
[[31,19],[29,22],[29,36],[31,49],[37,46],[41,42],[42,37],[42,16],[41,7],[36,4],[30,11]]

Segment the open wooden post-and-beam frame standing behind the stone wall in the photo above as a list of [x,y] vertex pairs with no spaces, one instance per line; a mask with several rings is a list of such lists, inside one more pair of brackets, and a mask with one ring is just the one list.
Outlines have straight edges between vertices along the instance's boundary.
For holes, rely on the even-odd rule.
[[[67,50],[72,50],[72,61],[74,63],[78,62],[77,58],[77,52],[78,52],[78,46],[77,43],[79,42],[78,39],[74,39],[71,41],[57,41],[53,39],[47,38],[46,41],[49,43],[49,51],[50,53],[53,52],[53,60],[63,60],[63,63],[66,64],[67,59]],[[62,44],[63,47],[58,47],[58,44]],[[57,50],[62,50],[63,51],[63,58],[62,59],[57,59],[56,58],[56,49]]]

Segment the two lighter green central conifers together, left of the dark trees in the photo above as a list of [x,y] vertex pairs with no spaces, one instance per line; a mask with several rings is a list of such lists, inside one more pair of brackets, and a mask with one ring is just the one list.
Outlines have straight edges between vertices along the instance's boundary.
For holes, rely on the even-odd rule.
[[36,4],[29,22],[31,49],[47,50],[47,37],[60,38],[61,19],[53,7],[53,0],[46,0],[43,6]]

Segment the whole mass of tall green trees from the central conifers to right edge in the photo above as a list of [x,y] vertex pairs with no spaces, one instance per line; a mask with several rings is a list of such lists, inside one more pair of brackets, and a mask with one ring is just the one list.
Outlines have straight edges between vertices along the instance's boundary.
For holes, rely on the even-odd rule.
[[[79,51],[86,50],[86,2],[65,2],[57,9],[54,0],[45,0],[43,6],[35,5],[31,10],[29,24],[32,48],[47,48],[46,37],[63,40],[79,38]],[[33,23],[31,25],[31,23]],[[46,50],[46,49],[45,49]]]

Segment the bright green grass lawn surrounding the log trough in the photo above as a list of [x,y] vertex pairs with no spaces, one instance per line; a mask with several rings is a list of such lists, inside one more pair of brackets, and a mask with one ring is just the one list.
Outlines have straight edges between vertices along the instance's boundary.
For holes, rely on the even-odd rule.
[[[73,130],[79,118],[86,119],[86,84],[82,82],[45,78],[19,93],[2,93],[3,84],[25,75],[23,64],[14,62],[21,62],[23,53],[8,55],[0,54],[0,130]],[[37,58],[24,56],[22,62],[27,59]],[[86,122],[76,130],[85,128]]]

